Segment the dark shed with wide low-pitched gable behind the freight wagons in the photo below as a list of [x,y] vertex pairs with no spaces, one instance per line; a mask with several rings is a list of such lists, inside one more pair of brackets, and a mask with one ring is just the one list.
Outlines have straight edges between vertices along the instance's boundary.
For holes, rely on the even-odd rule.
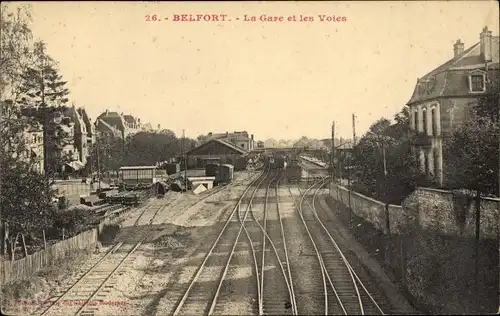
[[228,141],[212,139],[187,152],[188,168],[204,168],[207,162],[234,164],[248,152]]

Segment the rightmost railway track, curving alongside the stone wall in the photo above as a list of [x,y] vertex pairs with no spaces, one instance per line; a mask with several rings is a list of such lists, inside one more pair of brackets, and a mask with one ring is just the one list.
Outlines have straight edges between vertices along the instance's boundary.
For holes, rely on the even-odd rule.
[[[302,196],[298,205],[299,215],[313,244],[322,270],[324,289],[322,312],[344,315],[384,315],[383,310],[369,293],[364,282],[356,274],[317,214],[314,201],[324,183],[325,180],[322,179],[306,190],[301,190]],[[309,207],[304,207],[304,204],[308,204]],[[318,310],[319,312],[321,310]]]

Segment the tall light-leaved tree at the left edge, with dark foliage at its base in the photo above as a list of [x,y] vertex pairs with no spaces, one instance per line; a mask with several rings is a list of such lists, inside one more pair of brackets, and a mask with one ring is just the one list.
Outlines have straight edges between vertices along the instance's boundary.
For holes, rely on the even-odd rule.
[[36,124],[23,116],[18,101],[25,75],[35,66],[37,46],[31,42],[29,6],[12,11],[8,3],[1,3],[0,209],[3,223],[9,225],[7,234],[34,234],[51,226],[55,192],[24,155],[26,131]]

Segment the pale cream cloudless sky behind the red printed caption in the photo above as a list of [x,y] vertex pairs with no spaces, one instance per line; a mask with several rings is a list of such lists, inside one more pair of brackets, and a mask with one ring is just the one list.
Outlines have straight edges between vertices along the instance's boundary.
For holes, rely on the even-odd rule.
[[485,26],[499,33],[496,1],[33,2],[32,13],[35,38],[91,118],[108,109],[193,138],[329,138],[332,121],[346,138],[353,113],[361,136],[402,109],[457,39],[467,48]]

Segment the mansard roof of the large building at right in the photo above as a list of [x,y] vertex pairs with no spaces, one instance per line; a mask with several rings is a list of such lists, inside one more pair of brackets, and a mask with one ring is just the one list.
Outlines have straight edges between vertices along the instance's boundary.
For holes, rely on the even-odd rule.
[[[499,45],[499,37],[492,36],[492,61],[488,63],[489,70],[498,69]],[[473,71],[485,71],[485,69],[485,61],[481,55],[480,43],[476,43],[460,55],[448,60],[421,79],[418,79],[413,95],[407,104],[410,105],[447,96],[476,97],[477,94],[469,92],[467,77]]]

